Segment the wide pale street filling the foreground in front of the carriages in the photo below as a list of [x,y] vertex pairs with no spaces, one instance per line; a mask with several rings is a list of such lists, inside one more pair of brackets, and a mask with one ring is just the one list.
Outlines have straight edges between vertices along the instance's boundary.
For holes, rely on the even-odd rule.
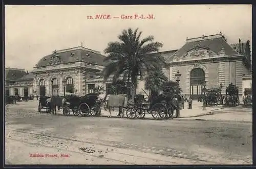
[[62,116],[18,104],[6,112],[9,164],[252,163],[252,123]]

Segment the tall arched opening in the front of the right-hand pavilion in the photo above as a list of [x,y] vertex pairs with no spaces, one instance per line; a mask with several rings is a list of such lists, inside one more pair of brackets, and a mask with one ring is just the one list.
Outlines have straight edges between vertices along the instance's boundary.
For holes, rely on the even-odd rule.
[[190,71],[190,89],[191,99],[198,99],[203,94],[203,82],[205,73],[202,68],[194,68]]

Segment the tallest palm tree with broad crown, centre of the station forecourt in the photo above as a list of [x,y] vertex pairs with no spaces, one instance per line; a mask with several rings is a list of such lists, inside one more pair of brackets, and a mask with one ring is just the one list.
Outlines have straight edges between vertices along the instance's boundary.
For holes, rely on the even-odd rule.
[[[108,57],[104,59],[109,64],[103,69],[104,82],[114,75],[113,82],[123,75],[123,79],[130,85],[132,102],[137,89],[137,77],[142,75],[144,71],[149,71],[164,64],[164,59],[160,55],[148,54],[158,52],[162,43],[154,42],[153,36],[148,36],[140,40],[142,32],[138,32],[138,28],[134,31],[129,28],[123,30],[118,36],[120,41],[109,42],[104,50]],[[130,86],[129,86],[130,88]]]

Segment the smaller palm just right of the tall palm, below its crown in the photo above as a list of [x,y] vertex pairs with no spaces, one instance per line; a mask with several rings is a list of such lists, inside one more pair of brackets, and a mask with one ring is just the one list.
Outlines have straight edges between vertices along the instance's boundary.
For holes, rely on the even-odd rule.
[[148,73],[145,78],[145,89],[150,91],[150,98],[154,100],[159,94],[161,86],[168,81],[168,78],[164,75],[162,69],[157,68]]

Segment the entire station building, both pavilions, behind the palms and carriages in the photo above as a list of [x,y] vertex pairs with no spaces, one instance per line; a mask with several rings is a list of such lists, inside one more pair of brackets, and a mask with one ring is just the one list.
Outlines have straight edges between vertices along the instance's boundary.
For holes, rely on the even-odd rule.
[[[182,94],[190,95],[193,99],[203,94],[203,81],[206,81],[206,88],[219,88],[220,83],[225,87],[233,83],[239,87],[242,99],[243,80],[251,76],[249,42],[228,44],[222,33],[187,38],[180,49],[151,55],[155,54],[164,57],[166,64],[163,72],[169,80],[175,81],[175,74],[179,70]],[[42,57],[30,74],[25,70],[15,70],[22,73],[12,79],[9,78],[12,74],[8,73],[10,69],[6,71],[6,86],[10,94],[14,94],[18,88],[20,95],[27,93],[27,90],[34,95],[58,95],[64,90],[85,95],[93,92],[94,87],[102,85],[106,94],[109,94],[112,78],[103,84],[101,71],[108,64],[103,61],[104,58],[100,52],[82,45],[55,50]],[[143,93],[143,79],[138,78],[137,87],[137,93]],[[225,94],[225,88],[222,94]]]

